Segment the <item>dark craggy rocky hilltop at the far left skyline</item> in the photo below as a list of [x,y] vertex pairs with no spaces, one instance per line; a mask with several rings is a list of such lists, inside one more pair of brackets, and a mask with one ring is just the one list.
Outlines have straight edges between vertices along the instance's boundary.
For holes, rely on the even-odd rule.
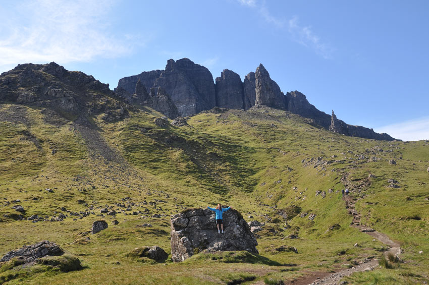
[[48,107],[79,118],[100,113],[106,113],[106,121],[128,117],[127,104],[112,97],[117,95],[108,84],[54,62],[18,65],[0,75],[0,101]]

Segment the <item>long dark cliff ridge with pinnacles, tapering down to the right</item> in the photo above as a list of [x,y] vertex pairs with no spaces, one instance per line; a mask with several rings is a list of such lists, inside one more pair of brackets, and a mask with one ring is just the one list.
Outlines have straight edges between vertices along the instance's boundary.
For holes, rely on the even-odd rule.
[[[259,65],[256,72],[247,74],[244,82],[237,73],[225,69],[213,83],[213,77],[205,67],[194,64],[189,59],[181,59],[176,62],[169,60],[164,71],[154,70],[125,77],[119,80],[115,90],[122,97],[135,102],[141,97],[141,95],[132,95],[138,94],[135,88],[139,80],[147,90],[152,87],[164,89],[177,108],[178,116],[189,116],[215,106],[247,110],[254,105],[266,105],[312,119],[315,124],[340,134],[368,139],[393,140],[389,135],[377,134],[372,129],[347,125],[334,117],[335,114],[332,118],[310,104],[305,95],[298,91],[287,92],[285,96],[262,64]],[[143,102],[152,107],[157,105],[153,102],[148,103],[147,100],[143,100]],[[176,111],[170,103],[167,103],[168,99],[165,99],[164,102],[163,106],[170,106],[167,109],[164,108],[169,113],[167,116],[173,118],[171,116],[175,116]],[[160,110],[159,106],[157,108],[155,109]]]

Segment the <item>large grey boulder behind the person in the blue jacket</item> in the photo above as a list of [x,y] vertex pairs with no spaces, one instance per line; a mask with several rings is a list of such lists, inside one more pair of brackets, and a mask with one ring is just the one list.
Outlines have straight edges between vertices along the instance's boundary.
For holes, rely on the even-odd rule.
[[215,213],[209,209],[187,209],[174,215],[170,223],[174,262],[184,261],[202,250],[258,253],[258,243],[249,225],[235,209],[224,213],[224,234],[218,234]]

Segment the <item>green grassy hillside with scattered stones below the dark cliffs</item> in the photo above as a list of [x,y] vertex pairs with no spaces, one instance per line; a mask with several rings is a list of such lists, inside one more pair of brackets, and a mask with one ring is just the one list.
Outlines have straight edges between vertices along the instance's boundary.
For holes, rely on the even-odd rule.
[[[350,226],[353,217],[340,192],[345,187],[362,224],[400,242],[405,261],[346,279],[428,281],[427,141],[346,137],[267,107],[205,111],[183,127],[159,127],[154,118],[162,115],[151,110],[114,123],[100,115],[86,126],[23,105],[2,104],[0,114],[0,255],[49,240],[85,266],[68,273],[7,270],[0,278],[9,274],[3,279],[8,284],[275,283],[352,267],[386,248]],[[389,179],[398,188],[388,187]],[[198,254],[180,264],[127,256],[152,245],[170,254],[170,215],[218,202],[241,211],[247,221],[265,222],[258,233],[260,256]],[[15,204],[25,212],[12,209]],[[104,216],[109,228],[88,240],[82,232],[102,208],[118,214]],[[33,214],[50,220],[60,213],[68,217],[20,220]],[[154,213],[161,217],[152,218]],[[282,245],[298,253],[276,250]]]

